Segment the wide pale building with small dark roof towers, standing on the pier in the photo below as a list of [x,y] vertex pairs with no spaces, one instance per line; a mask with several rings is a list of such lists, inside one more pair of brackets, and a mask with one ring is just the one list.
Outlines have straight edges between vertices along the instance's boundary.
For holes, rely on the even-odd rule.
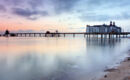
[[110,22],[110,25],[87,25],[86,32],[88,33],[120,33],[121,28],[115,25],[115,22]]

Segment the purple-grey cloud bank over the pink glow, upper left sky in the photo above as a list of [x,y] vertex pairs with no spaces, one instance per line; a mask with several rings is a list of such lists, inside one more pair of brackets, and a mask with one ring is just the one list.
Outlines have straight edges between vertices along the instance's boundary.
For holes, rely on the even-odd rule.
[[[77,2],[78,0],[1,0],[0,3],[8,5],[11,14],[35,20],[39,16],[72,12]],[[0,6],[0,9],[4,10],[4,7]]]

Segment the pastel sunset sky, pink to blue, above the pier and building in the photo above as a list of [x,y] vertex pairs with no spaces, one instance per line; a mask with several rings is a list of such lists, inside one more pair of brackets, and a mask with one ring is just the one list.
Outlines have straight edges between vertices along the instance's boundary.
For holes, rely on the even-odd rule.
[[130,31],[130,0],[0,0],[0,31],[84,32],[110,21]]

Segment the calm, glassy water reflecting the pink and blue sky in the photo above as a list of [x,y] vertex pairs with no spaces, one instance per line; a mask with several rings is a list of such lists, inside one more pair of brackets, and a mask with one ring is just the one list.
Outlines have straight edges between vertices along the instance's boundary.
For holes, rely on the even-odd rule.
[[96,80],[130,39],[0,38],[0,80]]

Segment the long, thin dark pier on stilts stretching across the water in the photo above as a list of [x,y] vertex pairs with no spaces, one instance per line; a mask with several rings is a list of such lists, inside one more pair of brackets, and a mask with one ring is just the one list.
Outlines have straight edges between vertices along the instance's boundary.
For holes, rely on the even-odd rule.
[[66,35],[73,35],[75,37],[78,34],[84,35],[84,37],[98,37],[100,36],[101,38],[108,37],[128,37],[130,35],[130,32],[121,32],[121,33],[86,33],[86,32],[66,32],[66,33],[10,33],[10,37],[66,37]]

